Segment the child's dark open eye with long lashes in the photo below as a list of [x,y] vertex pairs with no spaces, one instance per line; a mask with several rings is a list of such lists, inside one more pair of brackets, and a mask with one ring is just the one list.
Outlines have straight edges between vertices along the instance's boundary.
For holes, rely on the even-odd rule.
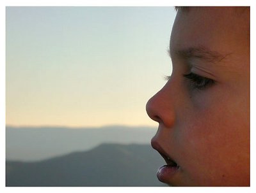
[[193,89],[204,90],[215,83],[214,80],[211,80],[210,78],[205,78],[194,73],[189,73],[188,75],[183,76],[190,81]]

